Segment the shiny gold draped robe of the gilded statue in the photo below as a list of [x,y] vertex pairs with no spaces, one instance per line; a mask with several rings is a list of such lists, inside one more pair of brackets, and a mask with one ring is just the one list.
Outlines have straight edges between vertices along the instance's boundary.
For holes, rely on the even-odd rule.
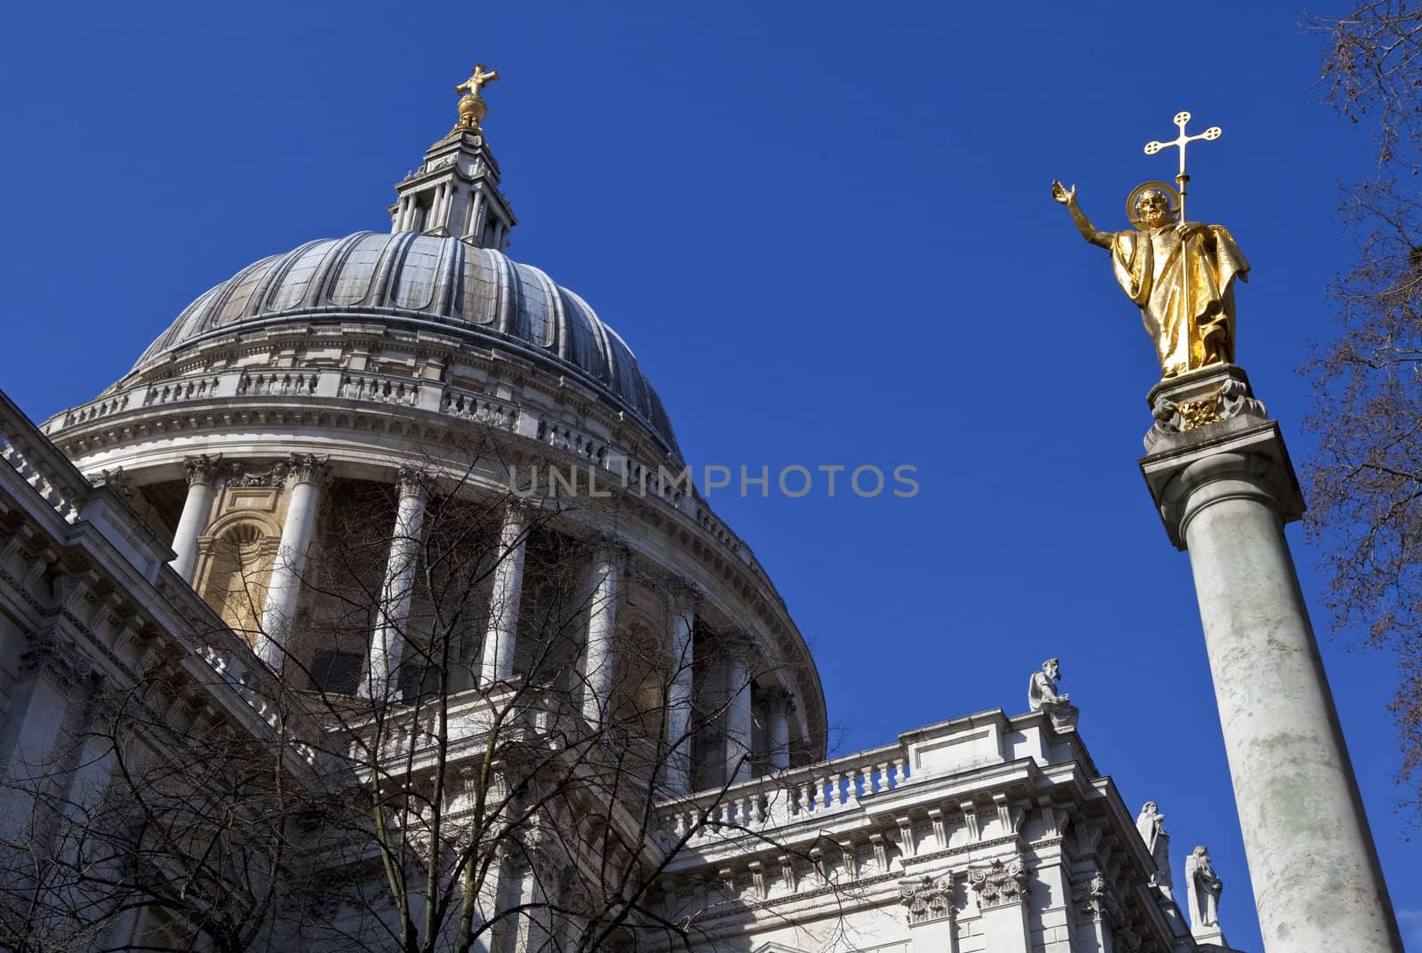
[[1185,240],[1175,225],[1118,232],[1111,263],[1121,289],[1140,309],[1162,377],[1234,360],[1233,284],[1236,277],[1249,280],[1249,262],[1223,225],[1207,225]]

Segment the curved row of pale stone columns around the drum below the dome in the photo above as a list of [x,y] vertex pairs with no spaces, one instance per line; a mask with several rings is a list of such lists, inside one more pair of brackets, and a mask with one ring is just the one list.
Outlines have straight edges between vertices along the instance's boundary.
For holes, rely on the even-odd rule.
[[[188,496],[178,521],[172,542],[175,556],[169,565],[189,583],[195,583],[199,541],[208,528],[223,472],[222,457],[186,458],[183,467],[188,477]],[[290,496],[256,644],[257,656],[272,669],[282,669],[287,649],[326,469],[324,458],[293,454],[276,471],[280,475],[277,484],[284,485]],[[394,678],[405,643],[431,479],[419,468],[402,465],[397,485],[400,496],[381,600],[370,639],[368,667],[358,687],[358,693],[364,697],[392,697],[400,690]],[[528,538],[535,515],[536,506],[532,504],[510,499],[499,526],[498,562],[492,573],[489,620],[479,664],[479,684],[485,687],[513,677]],[[609,538],[594,549],[589,568],[587,629],[577,676],[582,678],[583,717],[589,724],[599,727],[606,723],[611,704],[617,606],[624,595],[629,559],[629,550]],[[695,614],[697,605],[705,593],[697,583],[684,579],[658,576],[653,579],[653,585],[665,596],[670,620],[665,633],[670,650],[668,704],[664,717],[668,751],[665,782],[671,791],[688,792],[694,784],[691,747],[700,728],[693,717]],[[755,748],[752,738],[757,703],[752,694],[754,676],[748,664],[751,647],[744,639],[729,639],[727,644],[731,646],[731,651],[721,661],[728,696],[724,714],[725,779],[744,781],[754,774]],[[793,698],[791,693],[779,690],[769,693],[761,703],[766,714],[765,767],[772,771],[785,770],[791,764]]]

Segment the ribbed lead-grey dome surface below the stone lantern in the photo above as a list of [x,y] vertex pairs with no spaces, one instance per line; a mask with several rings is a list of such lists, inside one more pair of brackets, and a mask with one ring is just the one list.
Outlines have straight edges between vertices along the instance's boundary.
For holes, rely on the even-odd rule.
[[439,324],[550,366],[641,420],[681,457],[661,398],[631,348],[587,302],[536,267],[455,238],[357,232],[262,259],[183,309],[134,370],[233,330],[346,316]]

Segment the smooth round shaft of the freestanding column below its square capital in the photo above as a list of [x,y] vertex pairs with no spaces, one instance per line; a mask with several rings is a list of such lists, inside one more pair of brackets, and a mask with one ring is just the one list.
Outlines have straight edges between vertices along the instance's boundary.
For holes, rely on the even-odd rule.
[[1394,950],[1402,943],[1260,458],[1216,454],[1182,535],[1254,902],[1270,953]]

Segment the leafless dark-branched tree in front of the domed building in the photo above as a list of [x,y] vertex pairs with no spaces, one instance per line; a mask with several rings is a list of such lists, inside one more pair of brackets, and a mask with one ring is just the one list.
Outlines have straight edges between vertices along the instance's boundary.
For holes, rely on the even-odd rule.
[[[199,605],[186,643],[151,653],[135,684],[97,687],[53,764],[7,781],[34,809],[0,845],[0,949],[596,950],[702,936],[695,902],[668,913],[663,873],[712,826],[762,846],[775,836],[748,822],[761,808],[744,789],[741,812],[724,809],[752,758],[727,747],[727,711],[769,663],[718,667],[749,659],[748,643],[725,649],[731,632],[698,632],[695,657],[677,654],[678,583],[634,569],[616,538],[629,499],[590,495],[586,467],[562,452],[515,461],[479,431],[462,440],[415,461],[418,529],[401,525],[388,481],[326,488],[280,680],[253,667],[233,681],[183,649],[266,634],[272,553],[240,533],[209,553],[232,575],[203,590],[222,619]],[[510,464],[543,468],[542,488],[491,486]],[[583,492],[549,492],[549,468]],[[491,617],[513,606],[498,583],[510,511],[528,570],[512,673],[491,678]],[[395,552],[412,572],[392,590]],[[636,609],[651,624],[629,623],[623,605],[623,624],[604,626],[610,667],[594,670],[592,619],[616,606],[590,566],[607,553],[643,573],[638,600],[653,605]],[[381,626],[401,649],[387,677],[361,669]],[[220,711],[216,691],[255,717]],[[683,797],[671,777],[694,755],[721,770]],[[75,785],[80,774],[101,781]]]

